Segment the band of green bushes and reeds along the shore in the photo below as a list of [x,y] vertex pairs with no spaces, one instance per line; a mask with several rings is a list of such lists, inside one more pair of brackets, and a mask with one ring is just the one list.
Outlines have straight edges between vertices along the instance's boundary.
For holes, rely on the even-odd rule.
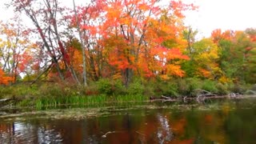
[[37,82],[32,85],[21,82],[0,86],[0,94],[0,107],[35,107],[40,110],[45,106],[105,106],[111,102],[186,102],[191,99],[200,102],[206,98],[242,98],[243,95],[255,95],[256,85],[177,78],[166,82],[134,79],[126,87],[118,80],[100,79],[86,87],[70,82]]

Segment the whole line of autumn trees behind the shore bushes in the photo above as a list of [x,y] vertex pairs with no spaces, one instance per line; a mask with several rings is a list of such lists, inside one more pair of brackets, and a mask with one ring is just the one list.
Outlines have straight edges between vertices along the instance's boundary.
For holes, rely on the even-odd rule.
[[8,4],[16,17],[0,26],[1,85],[50,81],[98,86],[86,94],[178,95],[193,86],[227,93],[256,83],[254,28],[197,39],[183,22],[185,12],[197,10],[193,3],[97,0],[73,8],[61,2]]

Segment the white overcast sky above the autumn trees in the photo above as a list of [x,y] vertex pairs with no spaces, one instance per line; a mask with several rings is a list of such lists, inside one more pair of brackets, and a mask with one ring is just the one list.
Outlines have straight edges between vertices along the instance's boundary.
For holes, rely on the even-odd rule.
[[[11,17],[11,11],[0,2],[0,19]],[[72,0],[59,0],[69,2]],[[77,6],[82,1],[75,0]],[[256,0],[183,0],[199,6],[198,12],[187,14],[186,25],[199,31],[200,37],[209,37],[212,30],[245,30],[256,28]]]

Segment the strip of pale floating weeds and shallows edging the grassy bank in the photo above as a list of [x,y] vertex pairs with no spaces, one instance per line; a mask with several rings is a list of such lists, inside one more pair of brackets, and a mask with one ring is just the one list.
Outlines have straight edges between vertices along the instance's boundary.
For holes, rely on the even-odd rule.
[[243,95],[237,98],[220,97],[206,98],[202,102],[189,98],[182,102],[178,99],[166,101],[155,99],[143,102],[106,102],[104,105],[62,105],[46,106],[41,110],[34,107],[2,106],[0,107],[0,120],[22,121],[23,119],[73,119],[104,117],[110,115],[124,114],[127,110],[234,110],[237,108],[246,109],[246,107],[255,106],[256,95]]

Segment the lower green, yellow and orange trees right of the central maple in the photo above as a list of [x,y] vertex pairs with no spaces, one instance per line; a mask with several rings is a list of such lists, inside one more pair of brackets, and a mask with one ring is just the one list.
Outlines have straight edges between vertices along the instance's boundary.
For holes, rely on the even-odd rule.
[[255,83],[256,35],[254,29],[245,31],[214,30],[210,38],[194,42],[194,34],[186,30],[186,54],[189,62],[182,63],[187,77],[208,78],[223,84]]

